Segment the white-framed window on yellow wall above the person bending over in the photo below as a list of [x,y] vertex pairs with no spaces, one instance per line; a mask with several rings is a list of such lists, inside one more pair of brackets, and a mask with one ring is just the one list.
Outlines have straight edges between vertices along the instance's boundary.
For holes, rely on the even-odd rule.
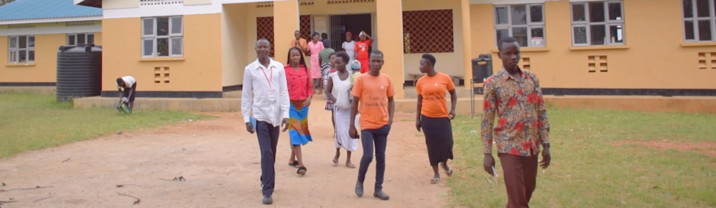
[[181,16],[142,18],[142,57],[183,56]]

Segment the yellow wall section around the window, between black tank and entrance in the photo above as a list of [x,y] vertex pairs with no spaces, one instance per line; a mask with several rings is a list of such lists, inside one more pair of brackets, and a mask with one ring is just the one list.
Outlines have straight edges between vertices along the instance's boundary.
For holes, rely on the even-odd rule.
[[[117,90],[117,77],[132,75],[138,91],[221,91],[221,14],[185,15],[183,60],[141,59],[141,19],[105,19],[102,90]],[[163,60],[163,61],[162,61]],[[170,67],[170,83],[154,83],[155,67]]]

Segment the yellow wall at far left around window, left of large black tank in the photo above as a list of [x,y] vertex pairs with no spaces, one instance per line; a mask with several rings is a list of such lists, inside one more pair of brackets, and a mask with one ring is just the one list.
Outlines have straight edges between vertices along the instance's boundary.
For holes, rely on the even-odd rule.
[[57,48],[66,34],[35,35],[35,63],[8,64],[8,36],[0,36],[0,82],[56,82]]

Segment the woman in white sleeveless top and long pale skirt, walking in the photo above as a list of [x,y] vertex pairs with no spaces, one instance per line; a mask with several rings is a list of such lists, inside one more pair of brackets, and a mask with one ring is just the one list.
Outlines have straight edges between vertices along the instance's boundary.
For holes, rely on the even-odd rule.
[[353,83],[351,81],[351,73],[346,69],[347,61],[350,60],[348,54],[340,51],[334,59],[337,71],[331,73],[326,84],[326,96],[329,101],[334,102],[334,124],[336,125],[336,155],[333,157],[333,165],[338,165],[338,159],[341,156],[341,147],[346,149],[346,167],[356,168],[351,163],[351,152],[358,150],[358,139],[349,136],[348,130],[351,121],[351,89]]

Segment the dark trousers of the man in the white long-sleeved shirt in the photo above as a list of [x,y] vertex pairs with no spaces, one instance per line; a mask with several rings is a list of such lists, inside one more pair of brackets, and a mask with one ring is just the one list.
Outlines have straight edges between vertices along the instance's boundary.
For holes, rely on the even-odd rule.
[[279,145],[279,127],[268,122],[256,121],[256,136],[258,136],[258,148],[261,149],[261,183],[263,184],[263,195],[274,193],[276,182],[276,145]]

